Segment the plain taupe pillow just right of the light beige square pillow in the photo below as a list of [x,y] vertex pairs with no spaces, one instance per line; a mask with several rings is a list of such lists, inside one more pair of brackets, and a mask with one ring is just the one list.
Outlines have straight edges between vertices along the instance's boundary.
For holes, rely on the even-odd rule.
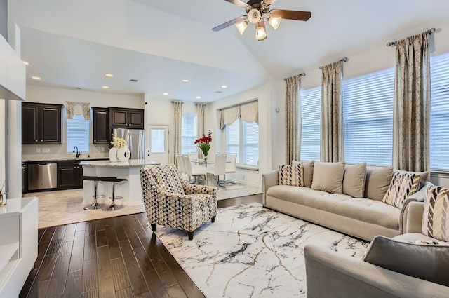
[[343,194],[353,198],[363,198],[365,191],[366,163],[348,165],[344,168],[343,175]]

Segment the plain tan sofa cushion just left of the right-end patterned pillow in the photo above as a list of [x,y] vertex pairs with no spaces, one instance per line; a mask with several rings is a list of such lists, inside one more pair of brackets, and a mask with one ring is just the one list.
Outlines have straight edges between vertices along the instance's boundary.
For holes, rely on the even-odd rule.
[[376,201],[382,201],[391,182],[393,168],[366,168],[365,192],[363,196]]

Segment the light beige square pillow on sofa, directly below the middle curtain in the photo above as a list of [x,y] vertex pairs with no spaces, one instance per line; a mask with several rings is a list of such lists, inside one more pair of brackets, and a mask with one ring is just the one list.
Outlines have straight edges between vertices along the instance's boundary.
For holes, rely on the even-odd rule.
[[311,189],[327,191],[330,194],[342,193],[344,163],[314,163],[314,178]]

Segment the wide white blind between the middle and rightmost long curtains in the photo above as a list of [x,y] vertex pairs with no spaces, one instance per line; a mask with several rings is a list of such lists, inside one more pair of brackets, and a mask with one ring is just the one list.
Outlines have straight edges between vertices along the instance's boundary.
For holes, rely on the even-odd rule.
[[344,160],[391,165],[394,69],[343,81]]

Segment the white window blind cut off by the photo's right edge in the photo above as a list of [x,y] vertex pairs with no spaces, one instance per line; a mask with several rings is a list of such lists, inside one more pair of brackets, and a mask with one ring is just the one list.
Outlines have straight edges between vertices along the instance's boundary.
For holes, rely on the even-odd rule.
[[449,170],[449,53],[431,57],[430,168]]

